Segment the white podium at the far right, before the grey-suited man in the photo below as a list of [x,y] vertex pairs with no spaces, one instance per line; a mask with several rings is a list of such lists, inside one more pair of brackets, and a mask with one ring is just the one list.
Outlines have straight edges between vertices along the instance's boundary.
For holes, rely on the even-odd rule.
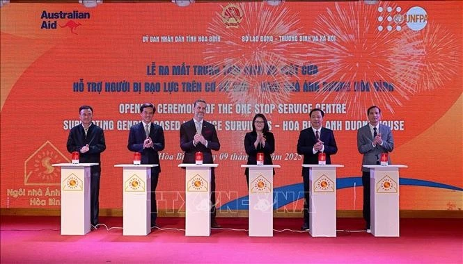
[[363,165],[370,169],[370,224],[373,236],[399,236],[399,168],[406,165]]

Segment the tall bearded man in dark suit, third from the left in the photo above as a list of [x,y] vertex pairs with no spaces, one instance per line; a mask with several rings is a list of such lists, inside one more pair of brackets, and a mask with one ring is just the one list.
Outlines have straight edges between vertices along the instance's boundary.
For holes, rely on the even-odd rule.
[[[212,150],[220,149],[219,138],[215,126],[204,120],[206,102],[198,99],[194,102],[194,117],[180,126],[180,148],[185,151],[183,163],[195,163],[195,153],[203,153],[203,163],[214,163]],[[215,173],[211,168],[211,227],[221,227],[215,220]]]

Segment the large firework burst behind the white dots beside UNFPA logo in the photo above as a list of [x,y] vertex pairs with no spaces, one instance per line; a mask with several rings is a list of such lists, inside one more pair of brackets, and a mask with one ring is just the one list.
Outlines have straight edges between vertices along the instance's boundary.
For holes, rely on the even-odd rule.
[[418,42],[401,40],[405,10],[398,6],[400,2],[379,3],[387,8],[362,1],[336,3],[334,10],[328,8],[315,19],[313,35],[336,38],[314,42],[308,51],[308,60],[319,69],[317,98],[346,102],[354,117],[363,117],[371,105],[394,113],[395,106],[402,106],[416,92],[409,84],[418,81],[419,69],[411,57],[420,49]]

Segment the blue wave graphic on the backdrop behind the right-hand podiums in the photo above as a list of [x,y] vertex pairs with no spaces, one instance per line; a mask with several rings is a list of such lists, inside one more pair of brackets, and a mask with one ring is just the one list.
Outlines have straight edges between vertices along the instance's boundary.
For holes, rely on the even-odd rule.
[[[412,186],[424,186],[431,188],[441,188],[448,190],[463,191],[463,188],[448,185],[444,183],[437,183],[434,181],[423,181],[418,179],[400,178],[400,185],[412,185]],[[353,188],[355,186],[362,186],[362,177],[348,177],[336,179],[337,190],[344,188]],[[304,185],[302,183],[295,183],[291,185],[285,185],[274,189],[274,210],[291,204],[294,201],[304,198]],[[229,201],[223,204],[219,208],[220,210],[248,210],[249,209],[249,197],[244,196],[233,201]]]

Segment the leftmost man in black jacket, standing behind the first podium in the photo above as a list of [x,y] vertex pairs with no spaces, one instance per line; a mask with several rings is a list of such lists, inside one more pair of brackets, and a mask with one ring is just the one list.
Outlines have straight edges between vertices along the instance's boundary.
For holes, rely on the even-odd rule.
[[66,147],[70,153],[79,151],[79,163],[98,163],[90,167],[90,222],[97,228],[100,206],[100,154],[106,149],[103,129],[92,123],[93,108],[81,106],[79,119],[81,124],[69,131]]

